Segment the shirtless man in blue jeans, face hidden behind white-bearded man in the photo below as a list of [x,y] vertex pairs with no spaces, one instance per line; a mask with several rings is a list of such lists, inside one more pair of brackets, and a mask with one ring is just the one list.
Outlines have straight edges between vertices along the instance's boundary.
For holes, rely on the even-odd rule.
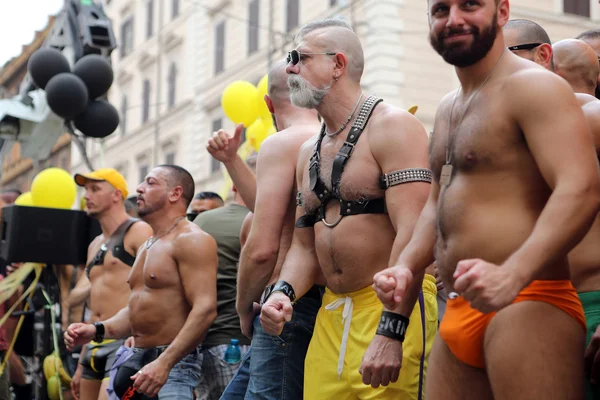
[[254,211],[240,257],[236,304],[242,332],[252,338],[252,347],[225,390],[225,400],[243,397],[243,393],[250,399],[302,399],[304,358],[321,305],[321,289],[313,286],[296,305],[293,324],[277,338],[263,331],[254,307],[279,279],[294,229],[298,152],[319,130],[316,111],[290,103],[286,64],[277,62],[269,71],[265,101],[280,131],[260,147],[256,181],[236,153],[240,126],[233,137],[217,132],[208,146],[213,157],[224,162],[244,202]]

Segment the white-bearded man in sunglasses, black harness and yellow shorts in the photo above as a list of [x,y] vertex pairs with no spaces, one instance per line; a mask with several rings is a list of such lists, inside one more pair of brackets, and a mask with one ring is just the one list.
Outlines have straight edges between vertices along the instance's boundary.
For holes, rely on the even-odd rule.
[[323,274],[305,398],[420,399],[437,331],[435,278],[421,274],[413,293],[419,306],[383,314],[371,283],[398,257],[427,199],[427,134],[409,112],[362,93],[362,46],[345,21],[309,23],[295,44],[287,66],[292,102],[316,109],[324,125],[300,152],[299,219],[262,307],[263,328],[281,332],[291,304]]

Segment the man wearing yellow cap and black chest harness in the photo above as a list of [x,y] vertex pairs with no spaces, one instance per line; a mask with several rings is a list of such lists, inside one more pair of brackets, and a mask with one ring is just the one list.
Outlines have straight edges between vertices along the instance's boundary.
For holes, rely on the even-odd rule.
[[[116,170],[103,168],[76,174],[75,182],[85,187],[86,211],[100,222],[102,234],[88,248],[85,276],[69,296],[69,303],[75,305],[89,298],[89,322],[94,323],[127,306],[130,294],[127,278],[138,248],[150,238],[152,228],[126,213],[127,182]],[[122,344],[122,340],[99,340],[83,347],[71,383],[77,398],[107,398],[110,367]]]

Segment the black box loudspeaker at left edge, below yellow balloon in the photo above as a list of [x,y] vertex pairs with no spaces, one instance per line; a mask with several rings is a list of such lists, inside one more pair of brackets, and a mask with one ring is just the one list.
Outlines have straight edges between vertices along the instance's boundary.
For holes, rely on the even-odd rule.
[[100,224],[83,211],[7,206],[2,209],[0,257],[8,262],[86,263]]

